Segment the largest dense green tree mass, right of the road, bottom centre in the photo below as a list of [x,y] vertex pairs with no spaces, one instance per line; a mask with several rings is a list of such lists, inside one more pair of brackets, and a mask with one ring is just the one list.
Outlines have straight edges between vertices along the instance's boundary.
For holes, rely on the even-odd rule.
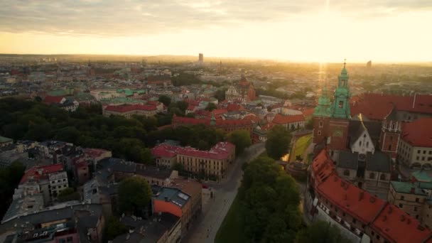
[[293,242],[301,227],[296,181],[275,161],[260,156],[244,166],[240,218],[247,242]]

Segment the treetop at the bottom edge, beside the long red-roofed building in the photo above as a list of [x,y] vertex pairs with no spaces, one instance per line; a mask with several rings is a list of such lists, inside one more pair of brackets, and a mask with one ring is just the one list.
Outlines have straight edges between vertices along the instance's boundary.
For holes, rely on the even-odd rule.
[[335,225],[330,225],[328,222],[317,221],[313,222],[306,229],[298,231],[296,236],[297,243],[339,243],[349,242],[342,237],[340,230]]

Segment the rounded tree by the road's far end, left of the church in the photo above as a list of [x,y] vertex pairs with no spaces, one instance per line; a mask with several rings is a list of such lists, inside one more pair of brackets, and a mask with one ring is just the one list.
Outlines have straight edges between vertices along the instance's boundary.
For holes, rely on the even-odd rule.
[[266,151],[274,159],[279,159],[288,153],[291,133],[284,126],[274,126],[267,134]]

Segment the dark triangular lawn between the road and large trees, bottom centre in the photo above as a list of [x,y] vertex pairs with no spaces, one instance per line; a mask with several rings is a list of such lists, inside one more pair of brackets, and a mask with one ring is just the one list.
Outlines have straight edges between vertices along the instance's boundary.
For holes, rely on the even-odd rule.
[[243,236],[242,224],[239,217],[240,200],[237,197],[232,202],[222,225],[215,237],[215,243],[246,242]]

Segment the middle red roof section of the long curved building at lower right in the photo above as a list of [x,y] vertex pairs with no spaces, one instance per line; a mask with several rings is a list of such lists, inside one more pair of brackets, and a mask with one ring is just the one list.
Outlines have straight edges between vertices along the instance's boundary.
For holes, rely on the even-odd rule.
[[384,200],[343,180],[335,173],[318,185],[317,189],[320,195],[330,200],[333,205],[338,205],[340,209],[355,216],[357,220],[361,220],[365,224],[372,222],[386,203]]

